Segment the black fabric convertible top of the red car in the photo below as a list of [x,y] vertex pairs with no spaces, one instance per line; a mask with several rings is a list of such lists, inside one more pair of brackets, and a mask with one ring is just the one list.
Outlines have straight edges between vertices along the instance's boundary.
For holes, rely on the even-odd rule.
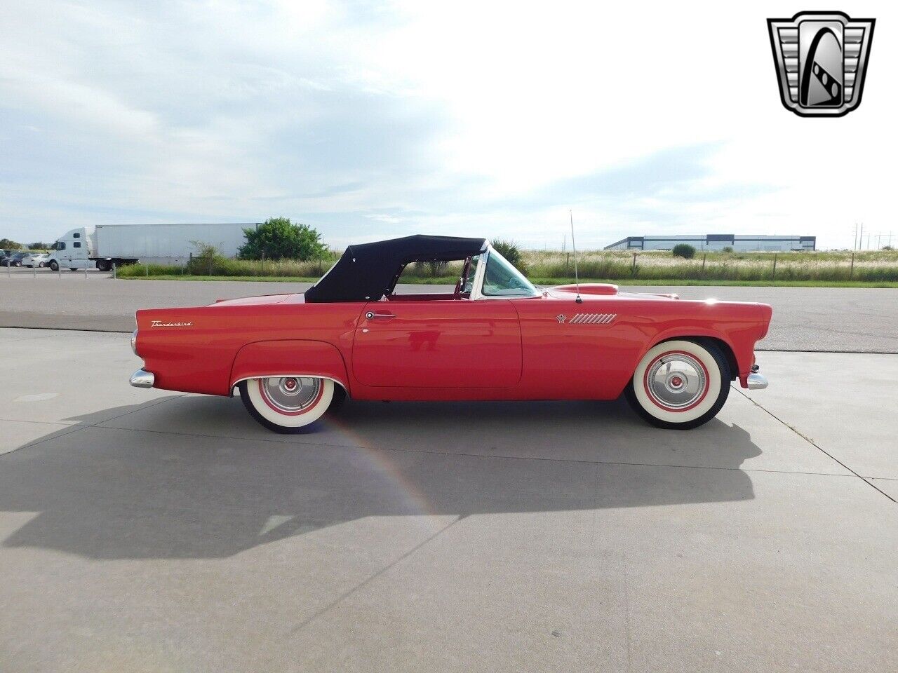
[[392,293],[411,262],[452,261],[480,253],[486,239],[406,236],[350,245],[337,264],[305,291],[306,302],[368,302]]

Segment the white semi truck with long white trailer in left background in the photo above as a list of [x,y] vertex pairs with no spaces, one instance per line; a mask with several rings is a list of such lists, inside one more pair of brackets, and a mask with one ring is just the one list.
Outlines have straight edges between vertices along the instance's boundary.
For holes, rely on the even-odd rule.
[[50,252],[48,265],[54,271],[68,267],[96,266],[109,271],[137,261],[153,264],[183,264],[200,245],[213,245],[225,257],[236,257],[246,242],[244,230],[258,223],[225,224],[98,224],[89,233],[81,227],[63,234]]

